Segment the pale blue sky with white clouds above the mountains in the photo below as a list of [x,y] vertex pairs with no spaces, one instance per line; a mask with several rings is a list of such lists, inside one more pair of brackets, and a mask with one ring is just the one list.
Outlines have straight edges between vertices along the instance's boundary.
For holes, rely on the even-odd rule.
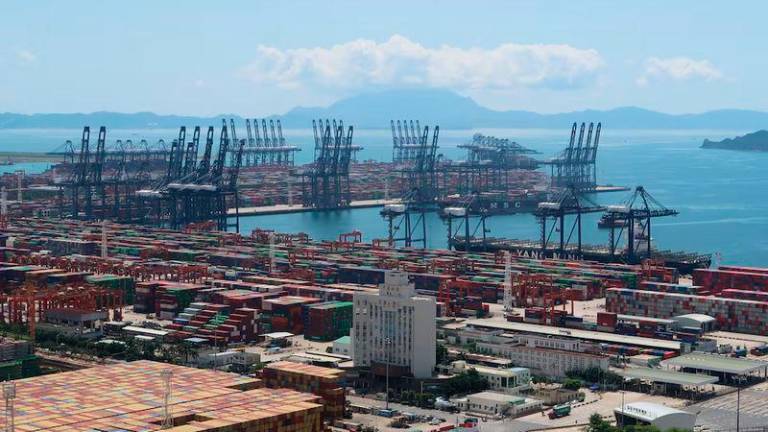
[[498,110],[768,111],[765,1],[3,1],[0,112],[248,116],[440,88]]

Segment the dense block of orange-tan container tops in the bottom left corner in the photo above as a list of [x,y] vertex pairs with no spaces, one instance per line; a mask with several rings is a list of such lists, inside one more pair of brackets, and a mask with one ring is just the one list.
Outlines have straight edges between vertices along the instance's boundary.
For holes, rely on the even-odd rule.
[[286,416],[313,413],[319,421],[321,415],[320,399],[311,394],[260,388],[260,380],[237,374],[136,361],[16,380],[16,430],[159,431],[165,370],[172,372],[173,416],[194,415],[167,432],[276,430],[278,417],[282,424]]

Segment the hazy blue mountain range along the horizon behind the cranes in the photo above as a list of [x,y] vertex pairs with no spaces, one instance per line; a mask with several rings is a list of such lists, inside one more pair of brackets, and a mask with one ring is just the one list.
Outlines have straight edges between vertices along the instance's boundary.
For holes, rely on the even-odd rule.
[[[0,113],[0,129],[80,128],[84,125],[109,128],[176,128],[180,125],[219,125],[222,118],[159,115],[151,112],[90,114]],[[768,127],[768,113],[724,109],[699,114],[665,114],[637,107],[585,110],[560,114],[531,111],[495,111],[468,97],[446,90],[393,90],[368,93],[340,100],[328,107],[298,107],[280,118],[285,128],[310,127],[314,118],[339,118],[360,128],[388,128],[391,119],[418,119],[421,124],[443,128],[568,128],[574,121],[601,121],[612,129],[736,129]]]

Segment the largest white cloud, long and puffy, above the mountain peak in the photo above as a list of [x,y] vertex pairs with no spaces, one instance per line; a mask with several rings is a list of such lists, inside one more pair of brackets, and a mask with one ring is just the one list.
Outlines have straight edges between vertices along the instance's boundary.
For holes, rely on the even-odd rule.
[[492,49],[449,45],[428,48],[400,35],[381,43],[357,39],[330,48],[259,45],[257,53],[257,58],[242,69],[243,76],[283,88],[571,88],[590,83],[603,66],[596,50],[569,45],[506,43]]

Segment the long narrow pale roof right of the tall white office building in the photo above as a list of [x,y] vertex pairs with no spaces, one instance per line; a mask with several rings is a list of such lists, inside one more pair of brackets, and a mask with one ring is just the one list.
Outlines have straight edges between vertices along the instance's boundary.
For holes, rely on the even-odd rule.
[[467,325],[474,327],[501,329],[519,333],[535,333],[551,336],[569,337],[574,339],[590,340],[593,342],[615,343],[623,345],[642,346],[648,348],[657,348],[664,350],[680,350],[680,342],[644,338],[639,336],[626,336],[614,333],[605,333],[592,330],[564,329],[561,327],[552,327],[540,324],[520,323],[520,322],[502,322],[489,320],[468,320]]

